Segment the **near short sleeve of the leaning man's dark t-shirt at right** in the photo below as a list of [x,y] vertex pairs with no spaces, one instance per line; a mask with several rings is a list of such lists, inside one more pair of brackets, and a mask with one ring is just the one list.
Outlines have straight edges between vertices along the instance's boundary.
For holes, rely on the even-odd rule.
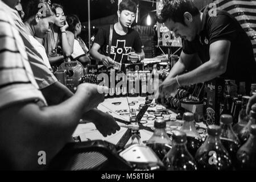
[[229,40],[231,42],[236,39],[237,28],[235,27],[232,18],[228,15],[220,14],[216,17],[211,17],[209,23],[210,44],[218,40]]

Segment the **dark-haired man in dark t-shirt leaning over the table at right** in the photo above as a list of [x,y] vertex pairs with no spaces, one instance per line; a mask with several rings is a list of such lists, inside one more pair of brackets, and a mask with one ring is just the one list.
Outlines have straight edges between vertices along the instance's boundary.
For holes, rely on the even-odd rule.
[[[246,82],[246,92],[250,92],[251,82],[256,81],[253,47],[232,15],[221,10],[214,14],[208,6],[199,11],[190,0],[172,0],[164,4],[158,22],[183,39],[179,61],[160,85],[161,97],[173,93],[178,86],[218,76]],[[183,74],[198,62],[201,64],[196,69]]]

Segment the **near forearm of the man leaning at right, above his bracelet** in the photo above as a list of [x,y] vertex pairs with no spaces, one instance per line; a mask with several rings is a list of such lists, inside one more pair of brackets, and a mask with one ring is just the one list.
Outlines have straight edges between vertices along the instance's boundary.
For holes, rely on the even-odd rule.
[[212,80],[222,73],[223,71],[220,68],[208,61],[193,71],[180,75],[178,80],[181,86],[192,85]]

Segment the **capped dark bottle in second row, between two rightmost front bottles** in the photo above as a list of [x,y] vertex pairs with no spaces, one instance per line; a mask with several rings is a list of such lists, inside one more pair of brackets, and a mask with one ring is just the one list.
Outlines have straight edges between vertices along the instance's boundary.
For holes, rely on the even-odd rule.
[[[225,149],[229,152],[232,163],[236,163],[236,154],[238,149],[241,147],[240,140],[232,129],[232,115],[223,114],[220,117],[221,123],[221,143]],[[234,166],[234,165],[233,165]]]

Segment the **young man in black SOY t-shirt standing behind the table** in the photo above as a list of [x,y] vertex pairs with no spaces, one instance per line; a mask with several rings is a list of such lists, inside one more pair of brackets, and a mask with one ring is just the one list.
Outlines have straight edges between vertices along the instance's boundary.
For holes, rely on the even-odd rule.
[[129,28],[135,20],[136,11],[136,3],[131,0],[123,0],[117,11],[118,22],[114,24],[113,28],[110,56],[108,56],[110,26],[98,30],[90,49],[90,56],[102,61],[106,67],[114,65],[114,61],[124,64],[128,59],[133,63],[143,60],[145,55],[141,38],[137,31]]

